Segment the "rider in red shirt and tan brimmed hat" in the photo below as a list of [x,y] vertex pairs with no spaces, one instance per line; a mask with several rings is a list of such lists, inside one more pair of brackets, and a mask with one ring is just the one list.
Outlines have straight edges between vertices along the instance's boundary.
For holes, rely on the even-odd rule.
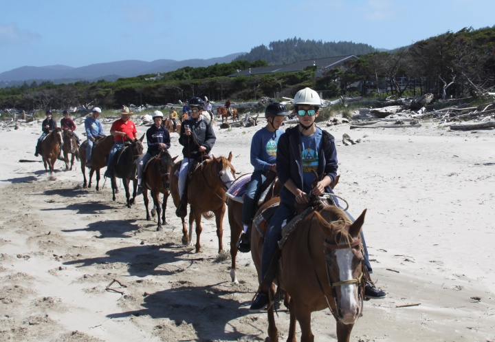
[[110,150],[107,171],[104,173],[104,176],[107,178],[113,177],[113,158],[115,158],[115,154],[124,147],[125,140],[137,139],[137,129],[135,128],[134,122],[129,120],[129,117],[134,113],[129,111],[129,108],[126,106],[122,106],[122,108],[120,119],[113,122],[110,129],[111,135],[115,138],[115,143]]

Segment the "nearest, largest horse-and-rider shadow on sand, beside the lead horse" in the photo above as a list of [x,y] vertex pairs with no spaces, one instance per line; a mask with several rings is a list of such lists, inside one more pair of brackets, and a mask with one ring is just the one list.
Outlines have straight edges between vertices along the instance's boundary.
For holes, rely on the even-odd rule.
[[141,304],[141,310],[107,314],[107,317],[149,315],[153,319],[169,319],[177,326],[190,324],[197,334],[196,341],[239,341],[245,337],[245,333],[230,324],[232,320],[248,314],[248,308],[241,308],[239,301],[232,299],[238,292],[236,288],[219,288],[221,283],[208,286],[177,285],[177,288],[148,295]]

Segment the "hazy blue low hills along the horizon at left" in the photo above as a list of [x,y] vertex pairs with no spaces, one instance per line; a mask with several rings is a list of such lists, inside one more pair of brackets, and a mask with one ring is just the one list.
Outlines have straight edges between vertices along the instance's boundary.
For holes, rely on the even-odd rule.
[[[118,61],[110,63],[91,64],[85,67],[68,67],[67,65],[50,65],[45,67],[18,67],[8,72],[0,73],[2,86],[22,85],[24,81],[52,81],[53,83],[68,83],[75,81],[115,81],[117,78],[134,77],[157,72],[171,72],[181,67],[208,67],[215,63],[230,63],[239,56],[228,56],[209,59],[158,59],[157,61]],[[20,83],[20,84],[19,84]]]

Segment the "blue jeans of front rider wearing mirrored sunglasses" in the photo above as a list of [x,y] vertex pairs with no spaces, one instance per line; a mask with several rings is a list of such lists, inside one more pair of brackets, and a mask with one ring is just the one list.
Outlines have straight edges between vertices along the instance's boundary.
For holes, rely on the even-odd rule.
[[[352,222],[355,221],[347,211],[345,213]],[[261,253],[261,279],[265,278],[270,263],[272,262],[272,257],[275,254],[275,250],[278,248],[278,240],[282,237],[281,232],[283,226],[290,222],[294,216],[296,216],[296,206],[294,206],[294,204],[289,204],[288,202],[281,202],[277,211],[274,213],[272,220],[270,221],[270,227],[268,227],[268,231],[265,234],[265,240],[263,241],[263,250]],[[364,233],[361,231],[360,235],[364,250],[364,266],[366,266],[368,272],[372,273],[373,269],[369,262],[368,248],[366,248]]]

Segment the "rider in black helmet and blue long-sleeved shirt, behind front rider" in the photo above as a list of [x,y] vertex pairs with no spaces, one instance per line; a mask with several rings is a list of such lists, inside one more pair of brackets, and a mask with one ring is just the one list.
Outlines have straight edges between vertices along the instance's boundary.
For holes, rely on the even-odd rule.
[[243,233],[241,233],[239,242],[237,242],[237,247],[243,253],[251,250],[248,227],[254,214],[255,199],[259,195],[261,185],[267,179],[267,172],[276,172],[277,142],[278,138],[284,133],[280,127],[285,116],[288,115],[287,109],[281,103],[274,102],[267,105],[265,109],[267,125],[254,133],[251,140],[251,164],[254,167],[254,172],[244,194]]

